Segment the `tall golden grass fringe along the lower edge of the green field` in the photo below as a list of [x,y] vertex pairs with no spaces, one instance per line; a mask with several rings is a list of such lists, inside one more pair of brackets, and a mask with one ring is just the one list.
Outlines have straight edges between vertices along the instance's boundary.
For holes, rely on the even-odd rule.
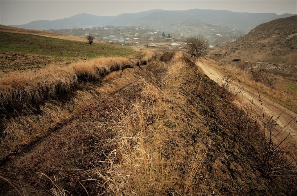
[[[142,63],[154,58],[152,51],[144,51]],[[135,58],[109,57],[78,62],[63,67],[51,66],[36,72],[13,72],[0,78],[0,110],[19,110],[30,105],[68,93],[83,81],[98,81],[113,71],[139,65]]]

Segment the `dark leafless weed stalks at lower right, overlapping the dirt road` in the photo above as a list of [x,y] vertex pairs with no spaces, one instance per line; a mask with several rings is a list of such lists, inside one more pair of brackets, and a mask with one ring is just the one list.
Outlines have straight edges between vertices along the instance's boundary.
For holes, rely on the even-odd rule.
[[[257,92],[262,111],[262,130],[261,126],[257,125],[257,123],[251,123],[255,121],[255,116],[257,117],[256,111],[252,110],[252,101],[250,102],[250,105],[247,106],[248,113],[244,117],[247,119],[244,123],[244,131],[246,141],[249,145],[249,152],[252,155],[251,158],[256,160],[256,167],[263,176],[281,180],[289,186],[296,188],[294,184],[297,180],[296,155],[288,150],[293,144],[285,144],[293,135],[291,132],[286,134],[285,130],[297,116],[283,128],[278,128],[277,121],[279,117],[266,117],[258,88]],[[282,139],[280,139],[280,136],[282,136]]]

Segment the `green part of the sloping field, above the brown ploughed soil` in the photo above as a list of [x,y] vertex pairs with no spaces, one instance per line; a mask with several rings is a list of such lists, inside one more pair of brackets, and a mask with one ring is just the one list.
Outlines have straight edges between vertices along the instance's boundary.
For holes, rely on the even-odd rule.
[[79,41],[7,32],[0,32],[1,51],[22,52],[62,59],[73,57],[127,57],[136,53],[132,48],[124,46],[97,43],[90,45]]

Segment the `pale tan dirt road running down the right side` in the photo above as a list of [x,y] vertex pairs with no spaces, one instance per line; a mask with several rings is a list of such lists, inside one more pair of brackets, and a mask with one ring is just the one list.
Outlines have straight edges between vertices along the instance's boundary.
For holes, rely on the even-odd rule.
[[[224,73],[222,73],[220,70],[207,65],[206,63],[198,62],[198,66],[204,71],[204,73],[213,81],[217,82],[219,85],[222,85],[222,81],[224,78]],[[259,95],[257,90],[252,89],[249,86],[244,86],[241,83],[231,81],[230,88],[234,91],[240,90],[240,95],[243,97],[244,103],[248,104],[251,100],[254,104],[254,106],[257,107],[257,114],[260,116],[263,115],[262,112],[262,106],[264,110],[264,114],[266,116],[274,116],[278,117],[278,124],[280,128],[283,128],[283,133],[279,134],[279,136],[276,138],[278,140],[281,140],[287,134],[291,133],[290,137],[285,145],[293,145],[294,147],[291,148],[291,150],[297,154],[297,114],[293,111],[289,110],[286,107],[283,107],[282,105],[279,105],[278,103],[272,101],[268,97],[265,97],[264,95],[260,95],[262,106],[259,100]],[[292,120],[293,119],[293,120]]]

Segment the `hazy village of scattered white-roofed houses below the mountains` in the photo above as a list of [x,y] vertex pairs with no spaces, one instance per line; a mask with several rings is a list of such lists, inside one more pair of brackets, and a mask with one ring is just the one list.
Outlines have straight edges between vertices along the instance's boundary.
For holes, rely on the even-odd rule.
[[101,26],[78,29],[51,29],[53,33],[85,38],[94,36],[95,40],[110,44],[139,46],[143,48],[181,49],[186,44],[187,37],[192,34],[202,34],[208,39],[210,47],[220,47],[236,41],[242,36],[235,29],[221,26],[187,27],[176,30],[154,30],[148,25],[144,26]]

